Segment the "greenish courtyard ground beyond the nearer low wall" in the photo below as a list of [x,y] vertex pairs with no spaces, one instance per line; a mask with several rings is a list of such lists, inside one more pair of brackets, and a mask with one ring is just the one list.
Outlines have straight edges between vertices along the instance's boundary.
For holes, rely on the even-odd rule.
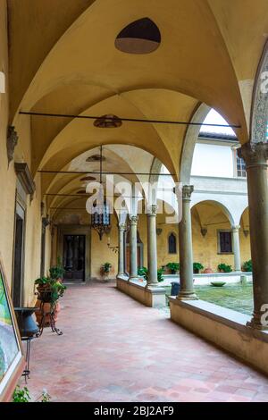
[[[170,294],[171,288],[167,288]],[[252,282],[225,284],[223,287],[195,286],[199,299],[214,303],[220,307],[228,307],[242,314],[251,315],[253,311]]]

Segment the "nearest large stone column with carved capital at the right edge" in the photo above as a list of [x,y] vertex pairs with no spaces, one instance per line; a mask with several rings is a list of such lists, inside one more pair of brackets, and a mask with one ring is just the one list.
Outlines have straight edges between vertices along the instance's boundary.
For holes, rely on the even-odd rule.
[[[247,167],[247,192],[253,265],[254,313],[250,326],[268,329],[265,308],[268,304],[268,143],[246,143],[239,149]],[[263,316],[264,315],[264,316]]]

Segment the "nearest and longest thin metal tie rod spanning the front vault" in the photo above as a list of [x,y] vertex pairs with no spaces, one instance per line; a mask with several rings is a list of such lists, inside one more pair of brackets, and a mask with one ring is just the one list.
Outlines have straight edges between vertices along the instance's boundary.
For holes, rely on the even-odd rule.
[[[71,115],[67,113],[34,113],[34,112],[26,112],[20,111],[21,115],[32,115],[32,116],[40,116],[40,117],[55,117],[55,118],[80,118],[80,119],[88,119],[88,120],[98,120],[100,116],[92,116],[92,115]],[[177,124],[177,125],[204,125],[208,127],[230,127],[232,129],[240,129],[241,125],[229,125],[229,124],[211,124],[211,123],[204,123],[204,122],[182,122],[182,121],[165,121],[165,120],[145,120],[142,118],[121,118],[118,117],[121,121],[125,122],[145,122],[145,123],[154,123],[154,124]],[[109,121],[117,121],[118,118],[110,118]]]

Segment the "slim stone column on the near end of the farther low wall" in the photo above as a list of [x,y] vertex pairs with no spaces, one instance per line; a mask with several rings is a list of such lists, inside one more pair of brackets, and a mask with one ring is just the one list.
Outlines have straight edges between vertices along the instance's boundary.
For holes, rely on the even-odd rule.
[[156,240],[156,205],[148,207],[147,214],[147,286],[157,287],[157,240]]

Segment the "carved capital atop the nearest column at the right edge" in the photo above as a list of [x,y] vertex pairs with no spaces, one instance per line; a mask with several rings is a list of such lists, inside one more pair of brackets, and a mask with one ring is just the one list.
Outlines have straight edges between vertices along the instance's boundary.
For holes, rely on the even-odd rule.
[[245,143],[238,149],[238,155],[246,162],[247,169],[254,166],[267,168],[268,143]]

